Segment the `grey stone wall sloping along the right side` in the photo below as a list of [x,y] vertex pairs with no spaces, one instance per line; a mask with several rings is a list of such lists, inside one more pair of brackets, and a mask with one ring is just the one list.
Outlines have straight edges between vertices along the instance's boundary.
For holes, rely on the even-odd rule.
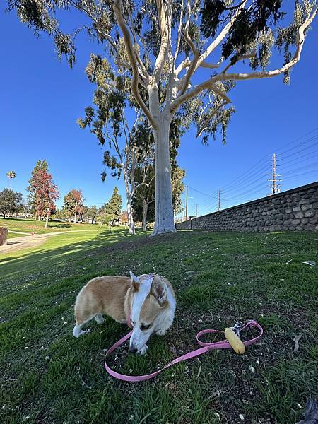
[[318,182],[176,224],[177,230],[318,230]]

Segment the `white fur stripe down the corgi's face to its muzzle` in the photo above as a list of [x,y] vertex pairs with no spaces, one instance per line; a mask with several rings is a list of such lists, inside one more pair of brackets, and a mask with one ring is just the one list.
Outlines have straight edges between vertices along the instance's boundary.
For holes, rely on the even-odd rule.
[[133,303],[131,306],[131,324],[134,326],[134,329],[131,334],[129,346],[131,350],[136,349],[136,351],[140,351],[141,348],[146,345],[148,338],[151,336],[154,329],[153,325],[149,329],[141,329],[141,325],[145,324],[144,322],[141,322],[141,307],[150,293],[153,275],[143,274],[138,278],[136,276],[131,277],[134,278],[136,283],[139,283],[139,290],[134,293]]

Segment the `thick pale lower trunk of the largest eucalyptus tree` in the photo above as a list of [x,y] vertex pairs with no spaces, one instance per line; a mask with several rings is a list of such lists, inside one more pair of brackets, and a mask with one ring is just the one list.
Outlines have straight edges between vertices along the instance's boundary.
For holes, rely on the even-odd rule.
[[171,118],[162,117],[155,136],[155,226],[152,235],[174,232],[170,170]]

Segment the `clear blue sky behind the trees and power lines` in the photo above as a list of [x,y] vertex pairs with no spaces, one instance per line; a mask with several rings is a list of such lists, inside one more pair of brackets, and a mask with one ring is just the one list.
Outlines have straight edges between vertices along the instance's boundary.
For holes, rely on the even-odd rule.
[[[57,60],[52,40],[35,37],[15,13],[2,8],[0,24],[0,189],[8,187],[6,172],[15,170],[13,189],[25,195],[36,161],[46,159],[61,194],[58,203],[73,188],[82,189],[88,204],[107,201],[115,185],[124,196],[122,182],[112,177],[101,181],[102,148],[76,124],[93,95],[84,69],[90,53],[100,47],[81,36],[76,65],[69,69],[65,61]],[[282,153],[278,156],[282,189],[317,180],[317,40],[316,19],[290,86],[281,77],[237,83],[231,93],[237,112],[225,146],[220,137],[202,146],[194,131],[184,135],[177,160],[187,172],[185,182],[193,188],[189,214],[195,213],[196,204],[199,214],[214,211],[218,189],[223,207],[269,194],[266,180],[274,152]],[[273,57],[271,67],[280,63],[282,58]]]

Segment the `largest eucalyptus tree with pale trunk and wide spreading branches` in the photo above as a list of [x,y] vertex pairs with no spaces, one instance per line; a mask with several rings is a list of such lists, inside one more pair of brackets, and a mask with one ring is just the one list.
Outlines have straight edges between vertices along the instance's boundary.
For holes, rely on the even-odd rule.
[[[7,0],[23,23],[54,36],[59,55],[72,66],[81,30],[107,46],[114,69],[131,75],[131,92],[155,139],[155,228],[175,230],[170,175],[170,125],[181,111],[207,141],[225,137],[233,112],[229,91],[238,81],[283,75],[298,63],[316,1],[295,0],[290,24],[282,0]],[[290,3],[290,2],[289,2]],[[83,12],[87,25],[63,33],[58,9]],[[280,26],[285,25],[285,26]],[[283,63],[269,69],[271,52]],[[244,72],[235,67],[247,61]],[[233,71],[234,69],[234,71]],[[146,95],[144,94],[146,92]],[[182,124],[184,122],[182,121]]]

